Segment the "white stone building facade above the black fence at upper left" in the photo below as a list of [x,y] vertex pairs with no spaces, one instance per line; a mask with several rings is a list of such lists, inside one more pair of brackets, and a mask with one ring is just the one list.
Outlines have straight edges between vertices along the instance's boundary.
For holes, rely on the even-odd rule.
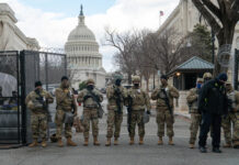
[[0,3],[0,51],[38,51],[35,38],[26,37],[15,25],[18,22],[13,10],[7,3]]

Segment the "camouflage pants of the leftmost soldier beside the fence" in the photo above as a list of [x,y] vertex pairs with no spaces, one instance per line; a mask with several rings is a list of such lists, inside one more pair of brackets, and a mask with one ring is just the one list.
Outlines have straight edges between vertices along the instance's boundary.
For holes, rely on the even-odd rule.
[[46,129],[47,129],[47,114],[44,113],[32,113],[31,114],[31,127],[33,139],[46,139]]

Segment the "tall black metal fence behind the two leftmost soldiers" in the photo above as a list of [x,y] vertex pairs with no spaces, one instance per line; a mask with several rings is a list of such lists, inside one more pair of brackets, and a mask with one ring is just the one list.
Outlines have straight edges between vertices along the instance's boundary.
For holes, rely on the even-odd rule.
[[[22,51],[22,52],[1,52],[0,53],[0,76],[4,87],[0,96],[1,106],[0,118],[0,143],[30,143],[31,133],[31,111],[27,110],[24,100],[27,94],[34,90],[34,82],[41,80],[43,88],[54,95],[55,88],[59,86],[60,78],[67,75],[67,58],[65,54]],[[8,82],[11,79],[11,82]],[[2,84],[2,82],[1,82]],[[8,92],[7,92],[8,91]],[[16,91],[16,95],[10,96]],[[7,99],[15,99],[16,107],[12,108]],[[10,108],[9,108],[10,107]],[[56,105],[49,105],[48,109],[55,116]],[[14,123],[14,124],[13,124]],[[10,127],[13,127],[11,132]],[[49,123],[53,128],[54,123]],[[10,141],[12,140],[12,141]]]

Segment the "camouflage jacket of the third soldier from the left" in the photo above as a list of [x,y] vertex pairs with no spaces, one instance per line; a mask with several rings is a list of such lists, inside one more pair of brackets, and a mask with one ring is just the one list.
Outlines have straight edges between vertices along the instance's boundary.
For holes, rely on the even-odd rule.
[[[93,89],[91,92],[98,97],[100,102],[103,101],[103,95],[100,91],[98,91],[96,89]],[[88,89],[81,90],[81,92],[78,95],[77,101],[82,102],[84,108],[98,108],[99,107],[98,102],[93,100]]]

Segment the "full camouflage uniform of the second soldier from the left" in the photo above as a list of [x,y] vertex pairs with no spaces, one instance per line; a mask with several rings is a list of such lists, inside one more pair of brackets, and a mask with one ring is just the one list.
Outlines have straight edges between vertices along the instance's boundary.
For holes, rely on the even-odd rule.
[[[61,139],[62,133],[62,125],[64,125],[64,116],[65,112],[71,112],[72,109],[75,110],[75,114],[77,113],[77,105],[73,98],[73,94],[71,92],[70,88],[64,88],[62,85],[56,89],[56,117],[55,117],[55,123],[56,123],[56,138]],[[71,139],[72,125],[66,123],[65,124],[65,136],[67,139]]]

